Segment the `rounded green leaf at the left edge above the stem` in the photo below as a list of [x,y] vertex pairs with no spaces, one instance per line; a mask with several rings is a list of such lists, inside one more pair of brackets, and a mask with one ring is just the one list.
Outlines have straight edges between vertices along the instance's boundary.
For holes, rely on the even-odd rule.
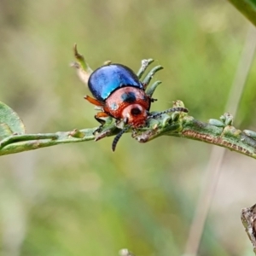
[[13,134],[24,134],[25,126],[12,108],[0,102],[0,140]]

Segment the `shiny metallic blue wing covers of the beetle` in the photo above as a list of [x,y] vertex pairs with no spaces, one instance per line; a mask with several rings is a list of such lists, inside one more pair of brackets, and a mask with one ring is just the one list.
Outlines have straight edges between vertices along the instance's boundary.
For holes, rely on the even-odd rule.
[[114,90],[125,86],[143,89],[143,84],[131,68],[121,64],[109,64],[97,68],[91,73],[88,81],[91,93],[100,102],[104,102]]

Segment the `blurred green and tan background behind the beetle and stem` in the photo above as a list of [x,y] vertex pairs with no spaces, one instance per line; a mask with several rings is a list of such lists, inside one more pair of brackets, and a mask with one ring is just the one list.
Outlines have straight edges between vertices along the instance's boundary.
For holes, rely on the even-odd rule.
[[[29,133],[95,127],[89,94],[69,63],[73,44],[96,68],[165,67],[152,110],[182,100],[196,119],[226,110],[249,22],[221,0],[0,1],[0,101]],[[255,70],[235,126],[256,129]],[[43,148],[0,159],[3,255],[182,255],[212,145],[176,137],[111,151],[100,142]],[[256,202],[255,160],[226,152],[199,255],[253,255],[241,207]],[[1,254],[1,255],[2,255]]]

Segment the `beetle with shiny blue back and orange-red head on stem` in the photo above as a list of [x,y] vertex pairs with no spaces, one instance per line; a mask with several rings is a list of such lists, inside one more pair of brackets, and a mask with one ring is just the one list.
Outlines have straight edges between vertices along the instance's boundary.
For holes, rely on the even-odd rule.
[[[150,94],[145,90],[153,74],[162,67],[154,68],[151,71],[152,74],[149,73],[148,80],[146,79],[147,83],[140,81],[145,69],[151,63],[150,61],[152,62],[153,60],[144,62],[144,66],[138,75],[130,67],[110,62],[97,68],[90,74],[88,87],[94,98],[84,96],[84,99],[101,109],[100,112],[96,113],[95,119],[104,125],[105,120],[102,118],[110,116],[116,119],[116,122],[123,121],[125,125],[125,128],[113,139],[113,151],[116,148],[119,138],[125,131],[129,128],[137,129],[138,127],[142,127],[146,125],[149,117],[156,116],[155,114],[150,115],[149,113],[151,102],[156,101],[152,98],[153,92]],[[171,108],[170,111],[161,113],[175,111],[188,112],[186,108]]]

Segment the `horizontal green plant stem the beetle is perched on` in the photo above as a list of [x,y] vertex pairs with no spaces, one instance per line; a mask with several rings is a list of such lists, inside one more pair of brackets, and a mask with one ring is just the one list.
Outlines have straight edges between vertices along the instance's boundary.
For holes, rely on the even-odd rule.
[[[174,115],[173,118],[173,115],[170,116],[169,114],[162,114],[157,119],[151,119],[148,128],[133,131],[132,137],[135,137],[140,143],[147,143],[160,136],[185,137],[229,148],[256,159],[256,139],[248,137],[245,132],[237,130],[232,125],[218,127],[204,123],[186,113],[179,113],[179,115],[178,119],[177,115]],[[1,141],[0,155],[14,154],[63,143],[82,143],[94,140],[96,139],[93,134],[94,131],[96,131],[96,128],[48,134],[13,135]],[[109,137],[116,135],[117,129],[113,124],[105,125],[102,132],[103,134],[105,132],[106,136]]]

